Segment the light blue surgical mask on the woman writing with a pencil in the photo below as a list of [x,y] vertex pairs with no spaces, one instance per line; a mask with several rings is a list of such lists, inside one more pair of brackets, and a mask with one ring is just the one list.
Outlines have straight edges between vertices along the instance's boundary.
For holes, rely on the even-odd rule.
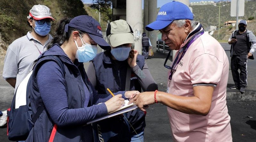
[[83,43],[83,38],[81,37],[81,35],[79,34],[80,36],[80,39],[82,41],[82,47],[78,47],[77,46],[77,43],[76,43],[76,40],[75,40],[75,43],[76,43],[76,47],[77,47],[77,51],[76,51],[76,59],[78,60],[78,62],[89,62],[91,61],[97,54],[97,46],[96,45],[91,45],[91,44],[88,44],[88,43]]

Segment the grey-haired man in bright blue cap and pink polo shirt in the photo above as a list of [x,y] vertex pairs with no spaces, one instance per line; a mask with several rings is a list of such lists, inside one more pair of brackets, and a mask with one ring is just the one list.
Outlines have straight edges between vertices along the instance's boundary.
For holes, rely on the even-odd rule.
[[156,21],[146,26],[148,31],[159,30],[165,44],[178,52],[171,66],[166,65],[170,52],[164,63],[169,69],[167,92],[143,92],[133,101],[141,110],[158,102],[166,105],[174,141],[231,142],[228,57],[193,19],[188,6],[173,1],[164,4]]

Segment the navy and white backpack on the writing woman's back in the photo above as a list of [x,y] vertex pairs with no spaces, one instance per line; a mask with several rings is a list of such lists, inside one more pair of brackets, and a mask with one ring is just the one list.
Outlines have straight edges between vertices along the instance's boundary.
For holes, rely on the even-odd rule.
[[[64,65],[59,57],[52,56],[64,71]],[[30,91],[33,87],[33,71],[31,71],[26,78],[22,80],[17,87],[12,99],[11,108],[7,109],[7,135],[9,140],[23,141],[28,138],[30,130],[40,114],[44,111],[44,105],[40,106],[36,114],[32,116],[30,106]]]

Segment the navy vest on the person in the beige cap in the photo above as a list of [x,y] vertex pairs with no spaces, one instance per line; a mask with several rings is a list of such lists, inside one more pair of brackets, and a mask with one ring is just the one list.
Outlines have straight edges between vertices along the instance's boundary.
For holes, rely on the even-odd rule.
[[[97,81],[96,82],[97,85],[95,89],[100,94],[109,94],[106,88],[109,88],[112,92],[115,92],[115,93],[118,91],[125,90],[126,71],[127,71],[127,67],[129,66],[127,63],[127,60],[114,61],[110,57],[111,57],[110,50],[107,50],[105,52],[101,52],[97,54],[97,56],[92,60],[92,63],[94,64],[94,68],[95,68],[95,75],[96,75],[96,81]],[[115,62],[119,62],[119,63],[115,64]],[[142,70],[145,63],[144,56],[138,55],[136,62],[137,62],[137,65]],[[131,91],[137,90],[141,92],[140,83],[133,71],[131,73],[130,90]],[[136,130],[137,133],[144,130],[146,123],[145,123],[145,114],[143,111],[137,108],[133,111],[128,112],[127,117],[129,122],[132,124],[133,128]],[[110,122],[111,120],[108,121],[108,124]],[[104,123],[101,123],[101,128],[104,127],[104,125],[105,125]],[[126,124],[126,125],[129,125],[129,124]],[[108,128],[106,130],[110,130],[110,129]],[[135,132],[132,128],[130,128],[130,131],[131,131],[131,135],[135,135]]]

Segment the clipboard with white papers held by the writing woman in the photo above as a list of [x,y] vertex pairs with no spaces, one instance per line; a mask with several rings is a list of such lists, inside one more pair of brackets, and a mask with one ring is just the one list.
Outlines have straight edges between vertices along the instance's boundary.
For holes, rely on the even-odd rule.
[[123,105],[123,107],[117,109],[114,112],[108,113],[106,116],[103,116],[103,117],[94,119],[92,121],[89,121],[86,124],[91,124],[91,123],[94,123],[94,122],[98,122],[100,120],[104,120],[104,119],[107,119],[107,118],[110,118],[110,117],[113,117],[113,116],[117,116],[119,114],[123,114],[125,112],[132,111],[132,110],[137,108],[135,103],[131,103],[131,104],[128,105],[129,100],[124,100],[124,102],[125,102],[125,104]]

